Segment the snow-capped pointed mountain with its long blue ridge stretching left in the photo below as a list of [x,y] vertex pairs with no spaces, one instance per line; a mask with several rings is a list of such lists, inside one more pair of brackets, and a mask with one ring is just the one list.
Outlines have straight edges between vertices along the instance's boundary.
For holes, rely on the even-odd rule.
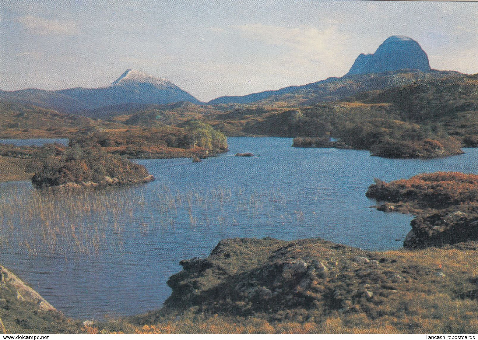
[[120,78],[106,87],[76,87],[56,91],[39,89],[0,91],[0,99],[53,108],[61,112],[123,103],[168,104],[179,101],[202,103],[169,80],[131,69],[126,70]]

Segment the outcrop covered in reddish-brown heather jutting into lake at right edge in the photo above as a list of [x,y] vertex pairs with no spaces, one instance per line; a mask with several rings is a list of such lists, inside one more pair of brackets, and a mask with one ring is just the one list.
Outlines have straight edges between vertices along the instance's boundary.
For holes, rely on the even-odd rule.
[[435,172],[408,180],[375,180],[366,195],[384,202],[377,209],[413,213],[403,245],[416,249],[478,241],[478,175]]

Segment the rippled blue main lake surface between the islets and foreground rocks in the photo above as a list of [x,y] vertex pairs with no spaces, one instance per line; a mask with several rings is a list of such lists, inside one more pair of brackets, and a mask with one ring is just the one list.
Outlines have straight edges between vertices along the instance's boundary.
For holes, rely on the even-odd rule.
[[[28,208],[38,201],[30,183],[1,183],[0,204],[25,208],[15,216],[0,208],[0,263],[67,316],[144,313],[161,308],[170,295],[166,281],[181,270],[181,259],[207,256],[223,238],[321,237],[368,250],[400,248],[412,216],[369,208],[376,202],[365,192],[375,177],[477,172],[478,149],[423,160],[292,148],[292,138],[228,138],[228,143],[228,153],[200,163],[138,160],[156,181],[75,196],[75,204],[92,207],[85,214],[54,198],[48,223],[61,225],[46,237],[37,235],[48,229],[44,217]],[[237,152],[261,157],[233,157]],[[37,201],[30,202],[33,197]],[[60,216],[61,209],[71,212]],[[74,233],[64,231],[71,226]]]

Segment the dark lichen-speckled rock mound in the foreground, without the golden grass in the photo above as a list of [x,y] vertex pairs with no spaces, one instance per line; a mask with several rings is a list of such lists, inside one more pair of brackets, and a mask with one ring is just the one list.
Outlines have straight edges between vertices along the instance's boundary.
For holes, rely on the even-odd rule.
[[[284,311],[296,309],[320,315],[363,310],[405,291],[414,273],[434,273],[320,239],[228,239],[207,258],[181,265],[168,280],[173,293],[163,312],[198,308],[211,315],[266,313],[272,319],[287,319]],[[151,322],[155,313],[135,321]]]

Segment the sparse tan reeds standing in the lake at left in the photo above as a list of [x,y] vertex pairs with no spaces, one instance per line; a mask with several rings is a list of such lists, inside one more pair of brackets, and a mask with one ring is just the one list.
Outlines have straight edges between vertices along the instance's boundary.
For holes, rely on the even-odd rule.
[[0,247],[29,255],[100,257],[123,252],[125,240],[183,231],[227,231],[303,223],[284,194],[245,187],[163,185],[38,191],[27,183],[0,186]]

